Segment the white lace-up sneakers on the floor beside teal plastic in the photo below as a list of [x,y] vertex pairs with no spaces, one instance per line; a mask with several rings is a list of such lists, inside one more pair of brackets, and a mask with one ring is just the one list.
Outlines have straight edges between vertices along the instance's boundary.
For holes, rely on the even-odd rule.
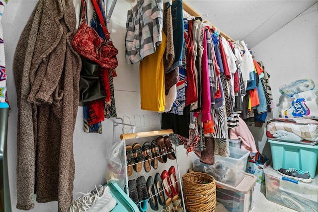
[[83,194],[68,209],[68,212],[110,212],[117,204],[115,198],[112,197],[109,187],[99,185],[98,190]]

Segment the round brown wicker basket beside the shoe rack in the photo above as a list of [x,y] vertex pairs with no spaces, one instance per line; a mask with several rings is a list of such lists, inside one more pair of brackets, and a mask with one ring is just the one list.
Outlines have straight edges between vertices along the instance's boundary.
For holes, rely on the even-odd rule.
[[216,186],[213,176],[190,172],[182,177],[183,197],[187,212],[215,212]]

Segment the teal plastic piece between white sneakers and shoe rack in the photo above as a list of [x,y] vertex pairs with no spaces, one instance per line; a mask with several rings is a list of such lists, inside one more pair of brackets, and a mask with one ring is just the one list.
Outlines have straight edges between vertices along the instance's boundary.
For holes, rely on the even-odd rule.
[[116,199],[117,204],[112,212],[139,212],[137,205],[115,182],[106,184],[109,186],[111,195]]

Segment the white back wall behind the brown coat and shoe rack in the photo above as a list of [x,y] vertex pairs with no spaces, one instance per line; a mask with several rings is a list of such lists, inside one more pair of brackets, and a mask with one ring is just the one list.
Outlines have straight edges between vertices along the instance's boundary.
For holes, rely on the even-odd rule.
[[[6,57],[6,73],[7,73],[7,92],[10,101],[11,111],[8,126],[8,169],[9,184],[11,193],[12,211],[16,209],[16,128],[17,128],[17,106],[16,91],[13,80],[12,65],[16,44],[20,34],[34,8],[37,0],[9,0],[2,17],[2,25],[4,28],[5,57]],[[77,15],[79,13],[80,0],[74,0]],[[91,9],[90,1],[87,1],[88,10]],[[127,11],[130,9],[130,2],[126,0],[117,0],[114,12],[108,23],[108,30],[111,33],[113,43],[118,49],[117,55],[119,66],[117,67],[117,77],[114,78],[115,87],[115,103],[117,116],[122,117],[127,124],[136,125],[136,132],[144,132],[160,129],[160,117],[156,112],[141,110],[140,105],[140,86],[139,86],[139,65],[130,65],[125,63],[125,26]],[[75,181],[74,181],[74,198],[80,196],[77,192],[87,192],[94,188],[94,185],[104,184],[104,174],[107,168],[106,158],[111,149],[113,142],[113,123],[121,122],[111,118],[102,122],[102,134],[84,133],[82,121],[82,108],[79,107],[76,128],[74,132],[74,157],[75,157]],[[128,133],[126,129],[125,133]],[[122,127],[115,128],[116,141],[120,141]],[[129,140],[127,143],[133,144],[140,142],[141,145],[145,141],[153,141],[157,137],[149,137],[138,140]],[[177,148],[180,175],[187,172],[192,166],[192,162],[186,156],[186,151],[182,146]],[[149,175],[155,177],[156,172],[168,170],[171,165],[176,167],[175,161],[169,161],[166,164],[159,163],[157,170],[152,169],[150,173],[141,172],[134,174],[132,177],[137,178],[145,175],[146,180]],[[57,202],[46,204],[35,204],[30,212],[56,212]]]

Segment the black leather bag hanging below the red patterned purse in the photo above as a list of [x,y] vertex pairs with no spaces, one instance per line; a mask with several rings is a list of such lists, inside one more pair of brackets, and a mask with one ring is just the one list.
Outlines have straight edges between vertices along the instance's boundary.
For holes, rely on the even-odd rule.
[[82,57],[79,78],[79,106],[106,98],[105,89],[99,80],[99,65]]

